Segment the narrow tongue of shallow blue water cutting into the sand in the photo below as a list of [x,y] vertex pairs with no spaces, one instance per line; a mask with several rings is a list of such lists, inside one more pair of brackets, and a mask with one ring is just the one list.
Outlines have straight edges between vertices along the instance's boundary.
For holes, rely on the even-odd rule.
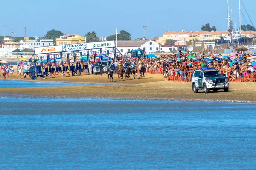
[[84,86],[100,85],[87,83],[66,83],[66,82],[33,82],[20,80],[0,80],[0,88],[29,88],[29,87],[55,87],[55,86]]

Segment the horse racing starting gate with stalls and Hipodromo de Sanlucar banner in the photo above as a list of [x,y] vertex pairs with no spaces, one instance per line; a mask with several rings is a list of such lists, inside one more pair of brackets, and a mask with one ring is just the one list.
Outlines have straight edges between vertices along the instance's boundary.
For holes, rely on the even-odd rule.
[[[43,63],[47,63],[48,71],[53,65],[55,71],[57,69],[60,71],[59,65],[61,65],[61,71],[64,71],[66,70],[64,62],[67,62],[68,69],[70,69],[70,61],[74,62],[75,69],[77,69],[77,62],[81,61],[81,67],[83,68],[83,62],[85,60],[90,62],[90,56],[92,56],[94,62],[97,62],[96,56],[99,56],[100,59],[107,57],[108,60],[113,58],[116,61],[120,54],[114,41],[43,46],[34,48],[34,55],[30,58],[30,63],[34,66],[35,73],[37,72],[37,64],[41,65],[41,70],[43,70]],[[56,66],[57,63],[58,67]]]

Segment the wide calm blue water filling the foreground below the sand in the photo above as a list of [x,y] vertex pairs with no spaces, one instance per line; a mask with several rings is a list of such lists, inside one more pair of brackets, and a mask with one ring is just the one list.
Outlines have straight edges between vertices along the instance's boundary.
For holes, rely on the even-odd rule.
[[0,98],[0,169],[255,169],[256,105]]

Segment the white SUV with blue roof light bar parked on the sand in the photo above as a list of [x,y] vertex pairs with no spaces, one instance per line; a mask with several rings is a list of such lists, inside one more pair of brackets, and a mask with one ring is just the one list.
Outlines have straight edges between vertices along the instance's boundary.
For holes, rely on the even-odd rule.
[[220,89],[228,92],[230,83],[228,78],[222,76],[218,70],[213,68],[202,68],[201,70],[196,70],[194,72],[191,85],[194,93],[197,93],[198,90],[204,90],[204,93],[208,93],[209,90],[217,92]]

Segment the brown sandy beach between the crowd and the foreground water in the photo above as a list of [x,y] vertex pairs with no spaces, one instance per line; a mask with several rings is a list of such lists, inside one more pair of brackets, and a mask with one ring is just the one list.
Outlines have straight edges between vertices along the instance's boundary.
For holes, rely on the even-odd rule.
[[[16,75],[16,74],[15,74]],[[7,79],[18,79],[11,77]],[[25,81],[31,80],[28,76]],[[120,79],[114,74],[114,81],[109,82],[108,75],[81,75],[70,77],[50,77],[35,81],[42,82],[77,82],[100,83],[105,86],[69,86],[40,88],[0,88],[1,96],[12,97],[47,97],[47,98],[93,98],[93,99],[140,99],[140,100],[184,100],[184,101],[227,101],[256,102],[256,83],[230,83],[230,91],[195,94],[190,82],[166,82],[160,74],[145,74],[136,79]],[[32,80],[31,80],[32,81]]]

